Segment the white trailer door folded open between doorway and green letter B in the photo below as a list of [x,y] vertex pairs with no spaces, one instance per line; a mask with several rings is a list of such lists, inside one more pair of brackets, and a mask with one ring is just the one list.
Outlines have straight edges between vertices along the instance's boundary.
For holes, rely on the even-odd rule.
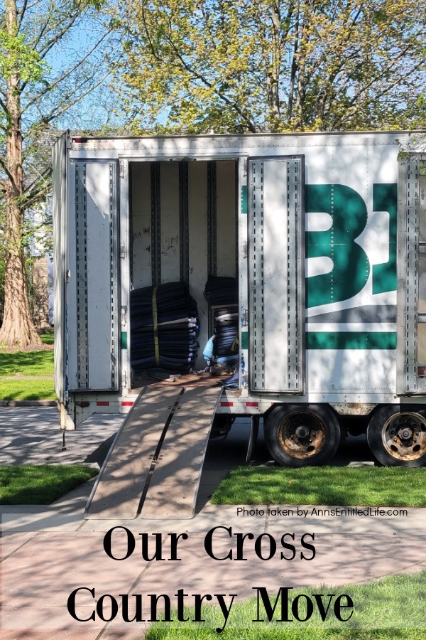
[[250,389],[305,390],[304,161],[249,160]]

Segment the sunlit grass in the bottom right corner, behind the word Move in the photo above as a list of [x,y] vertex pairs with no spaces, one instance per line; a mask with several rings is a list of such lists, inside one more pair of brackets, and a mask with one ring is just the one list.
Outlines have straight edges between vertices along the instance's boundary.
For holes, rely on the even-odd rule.
[[[225,589],[225,587],[224,587]],[[227,593],[226,590],[223,593]],[[272,605],[278,592],[268,592]],[[306,622],[297,622],[291,613],[291,604],[298,594],[305,594],[315,602],[313,594],[323,594],[323,602],[328,602],[327,594],[348,594],[354,603],[354,612],[349,622],[339,622],[334,614],[322,622],[317,607]],[[268,622],[263,602],[256,599],[234,599],[224,631],[217,634],[216,628],[224,626],[224,615],[219,607],[202,607],[205,623],[163,623],[153,624],[146,632],[146,640],[185,640],[223,638],[226,640],[322,640],[322,639],[410,639],[424,640],[426,637],[426,572],[416,575],[397,575],[368,582],[367,585],[346,585],[340,587],[303,587],[290,591],[288,609],[293,622],[276,622],[280,619],[280,602],[273,614],[273,622]],[[305,597],[300,598],[299,617],[305,617]],[[334,602],[334,600],[332,601]],[[346,599],[345,599],[346,602]],[[333,604],[332,604],[333,607]],[[331,609],[332,609],[331,607]],[[194,612],[185,612],[190,620]],[[344,614],[349,613],[344,611]],[[176,612],[171,618],[177,619]],[[265,622],[253,622],[253,621]],[[274,622],[275,621],[275,622]],[[171,628],[173,625],[174,628]],[[206,628],[207,627],[207,628]]]

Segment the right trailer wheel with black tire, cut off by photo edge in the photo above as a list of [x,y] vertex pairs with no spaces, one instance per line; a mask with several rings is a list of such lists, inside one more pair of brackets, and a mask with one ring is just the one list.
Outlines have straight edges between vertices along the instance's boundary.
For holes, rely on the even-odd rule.
[[367,427],[367,442],[383,466],[426,464],[425,411],[386,405],[376,410]]

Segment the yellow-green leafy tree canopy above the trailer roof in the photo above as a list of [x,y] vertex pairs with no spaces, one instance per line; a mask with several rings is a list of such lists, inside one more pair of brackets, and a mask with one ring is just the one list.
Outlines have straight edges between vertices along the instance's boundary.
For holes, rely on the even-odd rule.
[[117,0],[113,12],[135,133],[426,122],[425,0]]

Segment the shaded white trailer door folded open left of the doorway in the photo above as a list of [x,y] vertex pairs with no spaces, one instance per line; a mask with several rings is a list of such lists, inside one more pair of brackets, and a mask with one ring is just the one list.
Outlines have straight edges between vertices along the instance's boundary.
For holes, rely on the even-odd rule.
[[115,161],[71,161],[67,314],[70,391],[119,389],[118,191]]

